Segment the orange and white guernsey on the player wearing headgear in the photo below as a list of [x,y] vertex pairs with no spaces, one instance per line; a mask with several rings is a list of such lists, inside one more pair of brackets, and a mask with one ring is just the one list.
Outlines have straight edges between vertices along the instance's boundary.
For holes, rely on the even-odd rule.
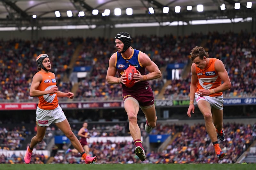
[[[41,74],[43,76],[43,80],[37,87],[37,90],[45,91],[50,90],[52,87],[56,86],[55,75],[51,72],[44,73],[42,71],[38,71],[36,74]],[[39,96],[38,107],[44,110],[52,110],[58,107],[58,99],[57,93],[53,94],[45,94],[43,96]]]

